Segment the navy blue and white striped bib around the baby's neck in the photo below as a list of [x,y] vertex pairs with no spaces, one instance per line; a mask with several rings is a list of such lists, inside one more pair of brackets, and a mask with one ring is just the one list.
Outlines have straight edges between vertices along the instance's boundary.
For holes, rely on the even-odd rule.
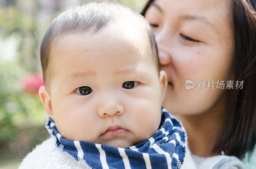
[[45,127],[55,139],[55,146],[60,152],[89,168],[176,169],[184,161],[187,134],[178,119],[164,108],[162,113],[155,135],[128,148],[64,139],[50,117]]

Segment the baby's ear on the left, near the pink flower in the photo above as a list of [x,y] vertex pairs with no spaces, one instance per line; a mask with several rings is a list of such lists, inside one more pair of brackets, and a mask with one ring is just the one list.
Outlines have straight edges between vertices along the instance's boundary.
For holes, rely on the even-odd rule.
[[46,113],[53,119],[53,114],[52,114],[52,103],[51,103],[51,97],[48,94],[45,86],[41,86],[38,90],[39,97],[41,99],[41,102],[44,106],[44,110]]

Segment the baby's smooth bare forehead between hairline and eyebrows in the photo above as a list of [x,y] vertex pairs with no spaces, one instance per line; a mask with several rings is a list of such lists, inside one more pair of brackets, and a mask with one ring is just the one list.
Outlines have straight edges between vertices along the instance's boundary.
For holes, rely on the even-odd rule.
[[[121,78],[157,73],[151,50],[143,38],[131,38],[129,33],[116,31],[103,32],[62,37],[61,44],[52,53],[54,76],[76,81],[87,75],[105,79],[107,75]],[[75,76],[79,74],[83,76]]]

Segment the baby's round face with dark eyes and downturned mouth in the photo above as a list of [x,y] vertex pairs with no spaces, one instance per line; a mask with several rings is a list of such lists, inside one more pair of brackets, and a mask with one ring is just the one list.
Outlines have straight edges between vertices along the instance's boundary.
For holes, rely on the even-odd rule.
[[154,135],[166,77],[146,35],[111,29],[58,42],[48,114],[61,136],[126,148]]

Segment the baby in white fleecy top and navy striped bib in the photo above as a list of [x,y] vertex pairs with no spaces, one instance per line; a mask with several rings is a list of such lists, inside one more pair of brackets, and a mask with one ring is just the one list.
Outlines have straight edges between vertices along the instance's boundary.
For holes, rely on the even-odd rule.
[[114,2],[55,18],[42,40],[39,96],[52,138],[20,168],[177,168],[187,136],[161,107],[160,71],[148,22]]

